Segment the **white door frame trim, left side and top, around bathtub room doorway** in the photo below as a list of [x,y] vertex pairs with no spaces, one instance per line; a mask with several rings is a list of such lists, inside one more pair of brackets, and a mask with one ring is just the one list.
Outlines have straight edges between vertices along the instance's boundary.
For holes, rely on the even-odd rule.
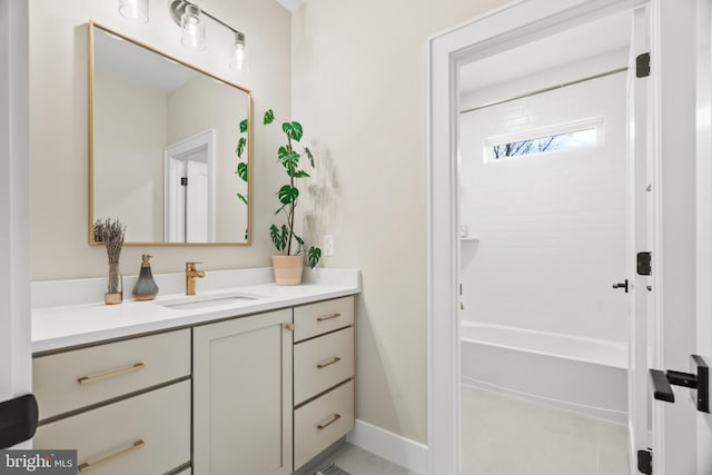
[[[651,3],[659,1],[650,0]],[[457,231],[459,67],[531,41],[544,31],[580,24],[646,3],[647,0],[516,0],[427,40],[429,474],[459,474],[462,471]],[[653,30],[652,34],[655,33]],[[654,47],[654,42],[651,46]],[[656,73],[653,69],[653,81]]]

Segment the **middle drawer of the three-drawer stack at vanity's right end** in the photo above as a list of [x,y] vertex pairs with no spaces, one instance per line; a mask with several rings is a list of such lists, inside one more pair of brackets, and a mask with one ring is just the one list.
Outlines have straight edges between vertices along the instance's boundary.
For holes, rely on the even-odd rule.
[[294,404],[354,376],[354,327],[294,346]]

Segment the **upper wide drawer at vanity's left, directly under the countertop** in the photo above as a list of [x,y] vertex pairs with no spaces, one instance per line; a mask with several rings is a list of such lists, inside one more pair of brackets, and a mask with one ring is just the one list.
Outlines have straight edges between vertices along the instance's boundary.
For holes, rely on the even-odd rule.
[[32,360],[40,420],[190,374],[184,329]]

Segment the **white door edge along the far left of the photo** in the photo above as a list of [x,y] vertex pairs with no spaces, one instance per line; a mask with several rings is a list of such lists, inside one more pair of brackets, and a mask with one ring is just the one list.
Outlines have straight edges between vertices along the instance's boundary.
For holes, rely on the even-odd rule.
[[0,38],[1,403],[32,389],[27,2],[0,0]]

